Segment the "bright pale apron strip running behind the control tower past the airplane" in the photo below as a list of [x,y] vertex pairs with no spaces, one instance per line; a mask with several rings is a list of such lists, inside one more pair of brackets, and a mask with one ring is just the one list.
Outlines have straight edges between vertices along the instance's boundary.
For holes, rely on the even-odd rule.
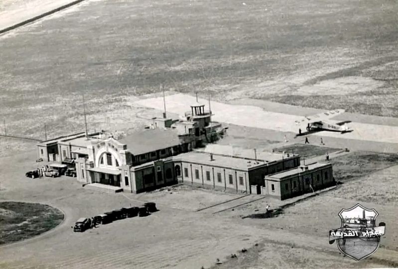
[[[198,99],[201,104],[208,104],[205,99]],[[163,98],[148,98],[136,102],[141,106],[162,110]],[[167,110],[184,115],[187,109],[187,104],[195,104],[196,98],[184,94],[176,94],[166,97]],[[207,106],[208,107],[208,106]],[[220,102],[211,102],[211,109],[215,115],[212,120],[235,124],[240,126],[255,127],[270,129],[280,132],[295,132],[298,133],[298,128],[294,124],[300,117],[265,111],[259,107],[242,106],[242,105],[228,105]],[[338,108],[336,108],[338,109]],[[336,122],[331,120],[331,122]],[[346,139],[357,139],[366,141],[380,141],[380,142],[397,142],[398,127],[387,125],[372,125],[363,123],[350,123],[349,126],[354,132],[343,134]],[[340,133],[322,132],[322,135],[328,137],[342,137]]]

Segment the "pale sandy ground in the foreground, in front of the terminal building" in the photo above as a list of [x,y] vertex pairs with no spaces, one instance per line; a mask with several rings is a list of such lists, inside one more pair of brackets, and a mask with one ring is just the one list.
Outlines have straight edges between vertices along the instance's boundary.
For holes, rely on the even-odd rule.
[[[35,152],[17,154],[13,157],[1,158],[4,167],[1,174],[1,200],[17,199],[47,203],[61,208],[66,213],[65,223],[55,230],[31,240],[0,248],[0,268],[208,268],[215,264],[216,259],[226,262],[231,253],[238,253],[242,248],[253,252],[255,243],[260,243],[252,262],[234,264],[229,262],[228,268],[326,268],[343,266],[385,267],[395,261],[396,253],[391,250],[397,240],[394,231],[396,216],[393,206],[364,203],[375,207],[380,213],[380,221],[385,221],[389,231],[389,239],[383,239],[384,247],[366,260],[355,264],[348,258],[341,259],[338,249],[329,245],[327,234],[329,229],[339,225],[337,212],[341,207],[350,205],[357,197],[340,198],[340,190],[296,204],[285,210],[285,214],[275,219],[256,220],[234,217],[225,211],[216,215],[206,212],[191,212],[200,206],[199,197],[209,201],[220,201],[219,193],[196,189],[196,194],[189,199],[189,190],[181,191],[183,205],[179,206],[171,198],[173,194],[162,198],[159,192],[146,193],[142,196],[106,194],[86,190],[72,178],[25,178],[23,173],[33,167],[31,159]],[[381,175],[393,174],[396,167],[385,170]],[[374,179],[375,175],[366,180]],[[366,181],[365,181],[366,182]],[[351,185],[352,184],[352,185]],[[343,185],[343,188],[358,188],[362,181]],[[383,184],[382,186],[388,186]],[[375,185],[376,187],[376,185]],[[370,187],[373,192],[375,187]],[[378,190],[380,193],[384,189]],[[354,194],[354,191],[350,191]],[[369,193],[371,194],[371,193]],[[179,194],[177,194],[179,195]],[[229,196],[229,194],[224,194]],[[362,194],[364,197],[367,193]],[[394,193],[392,194],[394,195]],[[230,196],[234,198],[234,195]],[[378,197],[378,196],[375,196]],[[70,226],[82,216],[92,216],[122,206],[140,205],[144,200],[161,201],[159,211],[145,218],[133,218],[117,221],[101,226],[83,234],[73,233]],[[203,199],[203,198],[202,198]],[[350,200],[355,199],[355,200]],[[328,201],[327,203],[325,201]],[[203,201],[206,203],[206,201]],[[267,201],[271,203],[272,201]],[[82,206],[84,204],[84,206]],[[317,206],[314,206],[314,205]],[[312,210],[308,210],[311,208]],[[314,210],[314,208],[317,208]],[[335,208],[335,210],[330,210]],[[252,211],[249,210],[250,212]],[[249,212],[248,211],[248,212]],[[389,213],[390,212],[390,213]],[[239,214],[244,213],[240,212]],[[253,212],[254,213],[254,212]],[[294,221],[292,222],[292,219]],[[308,229],[308,219],[312,219]],[[332,226],[332,227],[329,227]],[[283,230],[282,230],[283,228]],[[264,246],[264,247],[263,247]],[[110,249],[112,251],[110,252]],[[289,250],[289,251],[287,251]],[[323,253],[322,255],[318,255]],[[313,259],[314,256],[317,259]],[[240,256],[241,257],[241,256]],[[272,257],[272,259],[267,259]],[[397,256],[396,256],[397,257]],[[242,258],[242,257],[241,257]],[[240,259],[241,259],[240,258]],[[293,263],[293,261],[295,261]],[[389,264],[390,263],[390,264]]]

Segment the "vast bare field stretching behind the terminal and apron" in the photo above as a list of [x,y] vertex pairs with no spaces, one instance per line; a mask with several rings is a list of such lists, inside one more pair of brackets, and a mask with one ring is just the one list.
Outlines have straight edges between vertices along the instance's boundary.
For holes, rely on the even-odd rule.
[[[32,136],[44,122],[50,134],[81,129],[82,120],[68,122],[82,115],[81,94],[95,115],[160,83],[219,100],[397,116],[397,8],[389,0],[87,1],[0,37],[0,118]],[[325,96],[324,85],[346,92]]]

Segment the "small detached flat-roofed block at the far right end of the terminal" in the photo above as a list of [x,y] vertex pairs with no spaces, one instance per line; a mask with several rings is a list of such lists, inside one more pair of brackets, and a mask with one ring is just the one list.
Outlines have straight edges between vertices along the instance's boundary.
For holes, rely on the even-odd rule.
[[284,200],[333,184],[332,164],[315,162],[266,175],[263,194]]

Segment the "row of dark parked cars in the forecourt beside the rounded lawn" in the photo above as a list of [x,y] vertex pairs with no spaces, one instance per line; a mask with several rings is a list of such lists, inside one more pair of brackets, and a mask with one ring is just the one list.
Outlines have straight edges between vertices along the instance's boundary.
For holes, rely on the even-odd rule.
[[123,207],[121,209],[105,212],[104,214],[100,214],[92,218],[80,218],[72,228],[74,232],[84,232],[88,229],[97,227],[97,224],[104,225],[117,220],[133,218],[135,216],[145,217],[156,211],[156,204],[153,202],[144,203],[142,207]]

